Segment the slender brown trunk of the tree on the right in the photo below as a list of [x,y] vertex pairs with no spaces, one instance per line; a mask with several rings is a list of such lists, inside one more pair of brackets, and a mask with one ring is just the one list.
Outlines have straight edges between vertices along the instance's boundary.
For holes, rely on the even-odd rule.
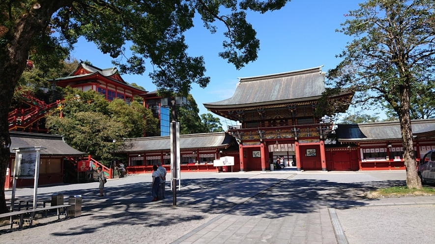
[[[408,82],[409,84],[409,82]],[[400,130],[402,133],[404,162],[406,166],[406,185],[409,189],[422,189],[420,178],[417,174],[417,162],[415,160],[414,145],[412,140],[411,118],[409,115],[410,89],[402,89],[400,98]]]

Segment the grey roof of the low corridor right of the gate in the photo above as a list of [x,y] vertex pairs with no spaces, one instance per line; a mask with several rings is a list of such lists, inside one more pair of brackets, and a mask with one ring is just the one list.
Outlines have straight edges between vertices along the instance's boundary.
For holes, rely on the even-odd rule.
[[[435,133],[435,119],[412,120],[411,128],[414,137],[428,132]],[[398,121],[339,124],[335,132],[339,142],[387,141],[402,138]]]

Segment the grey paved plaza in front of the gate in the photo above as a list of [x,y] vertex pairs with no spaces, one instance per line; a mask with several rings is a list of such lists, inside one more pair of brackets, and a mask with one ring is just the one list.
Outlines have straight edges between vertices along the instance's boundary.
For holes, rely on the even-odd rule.
[[[176,203],[151,202],[151,174],[98,183],[39,187],[38,200],[82,195],[82,215],[1,227],[0,243],[408,244],[434,243],[435,196],[368,199],[379,187],[405,185],[405,171],[292,169],[181,173]],[[16,191],[32,199],[33,189]],[[10,199],[11,191],[6,191]],[[429,230],[423,232],[421,230]]]

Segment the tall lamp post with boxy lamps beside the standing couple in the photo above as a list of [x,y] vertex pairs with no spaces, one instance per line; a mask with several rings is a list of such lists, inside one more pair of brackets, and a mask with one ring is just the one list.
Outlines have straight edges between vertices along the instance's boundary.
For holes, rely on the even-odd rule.
[[176,198],[176,179],[178,178],[178,170],[180,168],[180,127],[179,122],[176,122],[175,107],[184,106],[187,104],[186,97],[171,97],[161,99],[162,107],[172,108],[172,122],[171,122],[171,172],[172,172],[172,192],[173,192],[173,206],[177,205]]

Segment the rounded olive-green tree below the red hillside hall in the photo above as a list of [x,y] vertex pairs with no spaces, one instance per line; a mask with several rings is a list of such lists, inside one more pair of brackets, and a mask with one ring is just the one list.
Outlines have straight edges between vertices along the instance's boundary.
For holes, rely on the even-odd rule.
[[108,102],[95,91],[67,87],[62,104],[63,118],[59,109],[46,116],[50,133],[64,135],[66,143],[97,160],[109,161],[115,149],[125,146],[123,138],[158,131],[158,119],[136,101],[130,105],[121,99]]

